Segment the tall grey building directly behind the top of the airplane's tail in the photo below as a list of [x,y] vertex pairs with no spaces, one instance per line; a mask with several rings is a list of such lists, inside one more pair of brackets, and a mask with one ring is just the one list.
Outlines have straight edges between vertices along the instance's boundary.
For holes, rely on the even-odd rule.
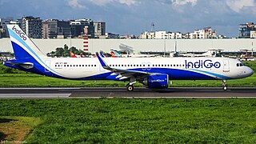
[[42,38],[42,19],[23,16],[20,21],[22,30],[29,38]]

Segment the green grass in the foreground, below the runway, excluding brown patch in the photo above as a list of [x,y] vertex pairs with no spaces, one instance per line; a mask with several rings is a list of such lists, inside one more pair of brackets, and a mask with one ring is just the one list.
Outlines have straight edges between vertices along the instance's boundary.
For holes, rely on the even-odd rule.
[[256,99],[1,100],[40,118],[27,143],[255,143]]

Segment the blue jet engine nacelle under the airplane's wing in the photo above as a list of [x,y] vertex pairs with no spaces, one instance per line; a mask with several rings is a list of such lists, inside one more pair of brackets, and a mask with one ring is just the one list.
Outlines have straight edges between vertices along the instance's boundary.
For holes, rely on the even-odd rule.
[[143,84],[151,89],[163,89],[168,87],[168,74],[154,74],[145,78]]

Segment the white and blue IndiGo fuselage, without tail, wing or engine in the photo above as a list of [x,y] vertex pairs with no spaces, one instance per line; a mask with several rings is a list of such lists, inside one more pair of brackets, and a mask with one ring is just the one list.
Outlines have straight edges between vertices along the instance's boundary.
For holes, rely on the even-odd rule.
[[[235,79],[245,78],[253,72],[231,58],[104,58],[104,61],[117,69],[169,74],[170,79],[204,79],[200,76],[188,78],[190,73],[205,74],[214,79]],[[45,62],[63,78],[87,78],[110,72],[102,68],[98,58],[46,58]],[[172,73],[175,70],[187,73]],[[99,76],[98,79],[104,78]]]

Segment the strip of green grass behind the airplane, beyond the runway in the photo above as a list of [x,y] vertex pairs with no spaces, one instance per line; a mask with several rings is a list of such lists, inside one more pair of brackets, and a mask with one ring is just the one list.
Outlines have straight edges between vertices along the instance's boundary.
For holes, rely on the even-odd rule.
[[[246,62],[256,71],[256,62]],[[58,78],[49,78],[38,74],[30,74],[20,70],[10,69],[0,65],[0,87],[125,87],[127,82],[114,81],[72,81]],[[230,87],[255,87],[256,74],[249,78],[227,81]],[[135,83],[134,86],[142,86],[140,83]],[[173,81],[170,87],[221,87],[220,80],[214,81]]]

